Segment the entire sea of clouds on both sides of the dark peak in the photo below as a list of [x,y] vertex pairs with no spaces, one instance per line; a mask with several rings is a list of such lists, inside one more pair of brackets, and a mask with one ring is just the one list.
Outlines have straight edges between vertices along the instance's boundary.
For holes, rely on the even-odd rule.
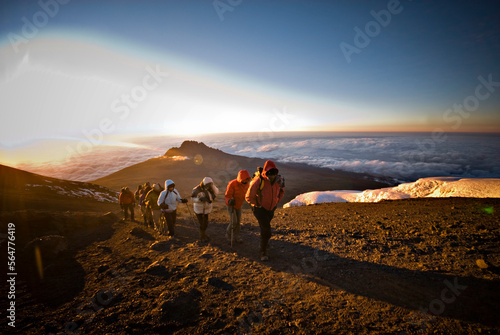
[[[91,181],[163,155],[183,140],[203,141],[224,152],[297,162],[411,182],[424,177],[499,178],[500,135],[266,133],[141,137],[127,145],[96,146],[66,162],[16,167],[47,176]],[[131,145],[132,144],[132,145]]]

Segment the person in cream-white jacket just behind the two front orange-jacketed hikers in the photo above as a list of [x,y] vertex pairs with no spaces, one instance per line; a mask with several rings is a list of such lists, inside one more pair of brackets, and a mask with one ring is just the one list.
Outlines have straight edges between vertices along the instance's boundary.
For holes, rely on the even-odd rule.
[[208,214],[212,212],[212,202],[219,193],[219,189],[214,185],[212,178],[205,177],[202,182],[193,189],[191,199],[193,199],[193,209],[200,223],[200,240],[208,242],[206,234],[208,227]]

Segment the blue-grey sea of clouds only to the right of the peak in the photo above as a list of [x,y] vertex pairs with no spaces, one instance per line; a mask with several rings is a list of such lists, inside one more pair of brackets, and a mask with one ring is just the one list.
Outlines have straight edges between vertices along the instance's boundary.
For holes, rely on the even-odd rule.
[[500,177],[500,136],[444,134],[302,134],[264,140],[216,138],[225,152],[368,173],[399,182],[422,177]]

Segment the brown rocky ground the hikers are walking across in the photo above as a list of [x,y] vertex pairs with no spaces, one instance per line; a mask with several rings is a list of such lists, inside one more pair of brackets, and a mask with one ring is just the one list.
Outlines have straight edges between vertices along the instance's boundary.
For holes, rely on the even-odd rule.
[[184,205],[173,239],[113,213],[81,214],[78,229],[67,229],[68,214],[31,213],[59,224],[40,233],[51,236],[38,242],[42,273],[36,243],[18,251],[16,328],[3,316],[0,326],[19,334],[497,334],[499,208],[500,199],[449,198],[279,209],[268,262],[258,258],[250,209],[244,242],[231,248],[222,203],[209,243],[198,241]]

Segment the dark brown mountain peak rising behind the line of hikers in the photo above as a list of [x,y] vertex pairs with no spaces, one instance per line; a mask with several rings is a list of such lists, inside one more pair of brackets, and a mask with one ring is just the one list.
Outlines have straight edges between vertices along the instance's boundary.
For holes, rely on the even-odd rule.
[[[92,182],[119,190],[122,186],[135,189],[146,181],[163,185],[166,179],[172,179],[181,196],[187,197],[206,176],[212,177],[221,192],[224,192],[227,183],[236,178],[239,170],[246,169],[252,174],[264,163],[265,159],[231,155],[204,143],[185,141],[179,148],[171,148],[161,157],[132,165]],[[334,171],[307,164],[276,163],[286,180],[284,201],[308,191],[365,190],[392,186],[366,174]]]

